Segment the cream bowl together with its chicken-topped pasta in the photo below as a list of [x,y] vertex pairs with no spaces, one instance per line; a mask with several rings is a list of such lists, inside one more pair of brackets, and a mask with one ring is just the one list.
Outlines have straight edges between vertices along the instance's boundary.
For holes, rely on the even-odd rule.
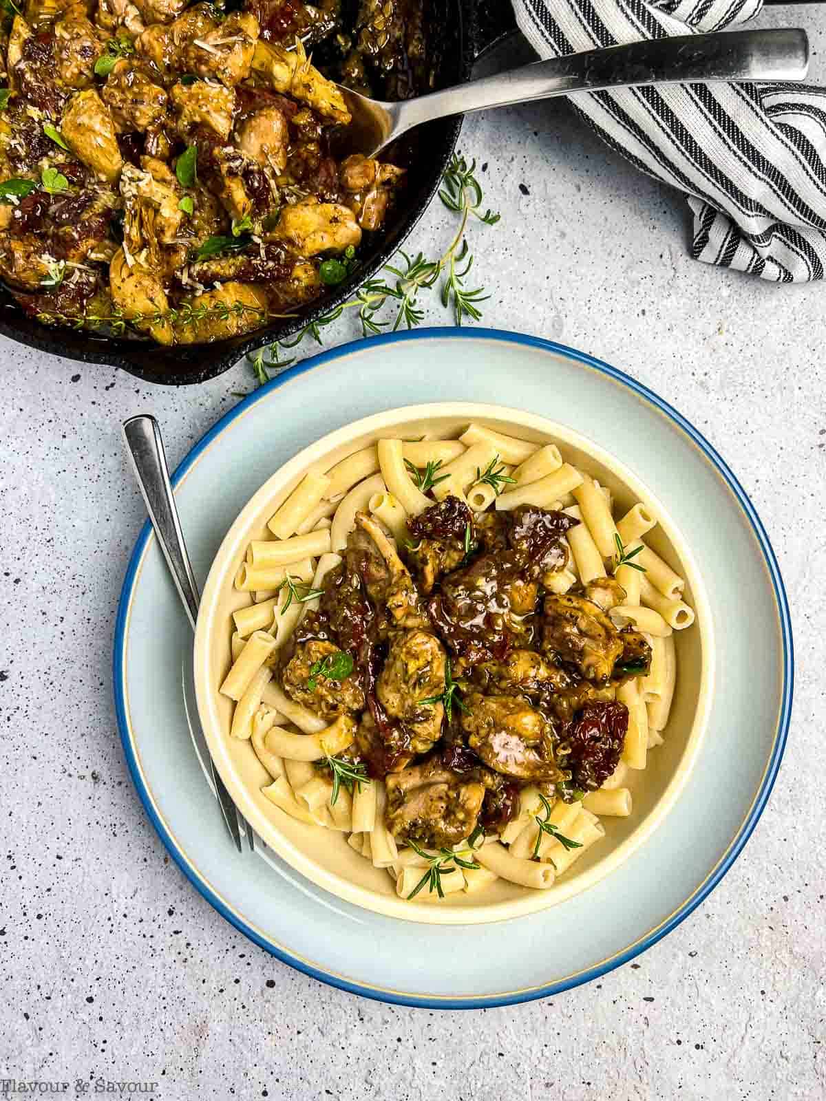
[[198,707],[290,864],[396,917],[500,920],[641,844],[703,734],[711,626],[660,502],[585,437],[439,404],[340,429],[221,545]]

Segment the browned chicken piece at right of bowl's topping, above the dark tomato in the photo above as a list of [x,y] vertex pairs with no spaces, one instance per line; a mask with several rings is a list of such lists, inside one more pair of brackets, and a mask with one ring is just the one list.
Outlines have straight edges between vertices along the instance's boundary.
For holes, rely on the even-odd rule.
[[574,666],[586,680],[605,684],[622,653],[619,632],[586,597],[566,592],[545,597],[541,648],[552,661]]

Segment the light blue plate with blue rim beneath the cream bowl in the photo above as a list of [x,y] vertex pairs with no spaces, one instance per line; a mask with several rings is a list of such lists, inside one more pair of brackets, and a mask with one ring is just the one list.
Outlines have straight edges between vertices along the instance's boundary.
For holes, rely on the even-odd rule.
[[181,657],[192,636],[149,524],[118,609],[115,696],[132,777],[155,828],[228,920],[344,990],[475,1009],[605,974],[655,944],[719,883],[778,774],[792,704],[792,633],[763,526],[699,433],[607,363],[492,329],[425,329],[347,345],[236,406],[173,478],[196,575],[203,581],[242,505],[302,447],[368,414],[437,401],[507,404],[585,433],[666,503],[699,564],[717,640],[708,732],[665,822],[619,870],[552,909],[470,929],[381,917],[339,902],[274,855],[239,857],[187,732]]

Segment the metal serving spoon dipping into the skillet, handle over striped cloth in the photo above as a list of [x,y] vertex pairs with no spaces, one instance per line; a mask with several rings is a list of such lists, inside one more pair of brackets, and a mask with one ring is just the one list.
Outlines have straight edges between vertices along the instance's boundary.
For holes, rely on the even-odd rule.
[[[697,80],[802,80],[808,70],[808,39],[795,29],[688,34],[624,46],[589,50],[534,62],[417,99],[384,103],[339,85],[352,122],[341,151],[374,156],[413,127],[447,115],[526,103],[572,91],[600,91],[646,84]],[[345,150],[346,146],[346,150]]]

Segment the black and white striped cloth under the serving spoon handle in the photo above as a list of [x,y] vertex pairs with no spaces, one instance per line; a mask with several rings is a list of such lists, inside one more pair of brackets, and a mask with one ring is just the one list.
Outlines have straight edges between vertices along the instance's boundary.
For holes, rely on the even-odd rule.
[[[542,57],[718,31],[762,0],[513,0]],[[611,149],[685,192],[692,255],[779,283],[824,277],[826,89],[688,84],[570,98]]]

